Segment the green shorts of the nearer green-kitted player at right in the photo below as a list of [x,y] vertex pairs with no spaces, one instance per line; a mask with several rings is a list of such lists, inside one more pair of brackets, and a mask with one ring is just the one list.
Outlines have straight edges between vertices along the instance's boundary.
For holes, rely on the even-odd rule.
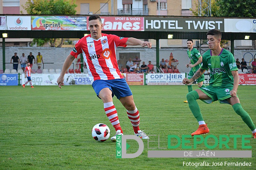
[[199,90],[201,90],[207,96],[212,98],[212,100],[202,100],[204,103],[207,103],[207,104],[210,104],[213,101],[217,101],[217,100],[219,100],[220,103],[230,104],[226,99],[231,97],[230,91],[232,89],[233,89],[233,86],[212,87],[211,85],[199,88]]

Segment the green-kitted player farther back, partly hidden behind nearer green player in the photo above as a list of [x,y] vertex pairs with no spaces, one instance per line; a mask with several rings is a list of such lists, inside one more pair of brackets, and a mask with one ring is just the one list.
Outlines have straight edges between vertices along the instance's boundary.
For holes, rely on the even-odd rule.
[[[193,48],[193,40],[188,39],[187,40],[187,46],[188,46],[188,58],[190,59],[189,64],[186,64],[187,67],[191,68],[191,70],[188,73],[188,79],[192,78],[192,76],[194,76],[194,74],[196,73],[196,71],[201,68],[201,63],[202,63],[202,56],[199,53],[199,51],[196,48]],[[192,84],[194,81],[192,81],[191,83],[187,84],[188,85],[188,92],[192,92],[193,88],[192,88]],[[203,85],[204,82],[204,74],[202,74],[202,76],[200,76],[199,78],[197,78],[197,85],[198,87],[206,87],[205,85]],[[188,103],[188,100],[183,101],[184,103]]]

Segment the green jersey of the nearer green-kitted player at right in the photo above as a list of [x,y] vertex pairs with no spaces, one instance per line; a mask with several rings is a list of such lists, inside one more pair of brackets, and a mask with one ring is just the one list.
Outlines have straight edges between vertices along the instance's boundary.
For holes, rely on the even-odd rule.
[[209,49],[203,55],[202,69],[210,69],[209,85],[215,87],[224,87],[227,85],[233,86],[234,78],[231,71],[238,70],[236,61],[232,53],[222,48],[222,51],[217,56],[212,56],[212,51]]

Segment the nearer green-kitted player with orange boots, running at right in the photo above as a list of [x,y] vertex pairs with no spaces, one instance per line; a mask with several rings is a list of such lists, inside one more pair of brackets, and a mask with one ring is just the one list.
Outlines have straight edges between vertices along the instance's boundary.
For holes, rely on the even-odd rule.
[[228,50],[220,47],[221,32],[219,30],[210,30],[206,35],[210,49],[203,55],[202,68],[199,68],[191,79],[183,79],[183,84],[189,84],[203,75],[208,68],[211,72],[209,86],[187,94],[188,106],[199,123],[199,128],[191,135],[201,135],[209,132],[196,102],[197,99],[200,99],[208,104],[217,100],[220,103],[231,104],[235,112],[252,130],[253,138],[256,138],[255,125],[249,114],[241,106],[236,94],[239,78],[234,56]]

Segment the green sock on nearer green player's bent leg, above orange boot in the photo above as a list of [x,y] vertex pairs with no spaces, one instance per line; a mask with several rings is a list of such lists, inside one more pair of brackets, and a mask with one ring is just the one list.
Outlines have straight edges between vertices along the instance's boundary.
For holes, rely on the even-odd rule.
[[197,104],[197,99],[199,99],[199,95],[196,91],[192,91],[187,94],[188,107],[190,108],[192,114],[195,116],[197,122],[199,122],[204,121],[204,119]]

